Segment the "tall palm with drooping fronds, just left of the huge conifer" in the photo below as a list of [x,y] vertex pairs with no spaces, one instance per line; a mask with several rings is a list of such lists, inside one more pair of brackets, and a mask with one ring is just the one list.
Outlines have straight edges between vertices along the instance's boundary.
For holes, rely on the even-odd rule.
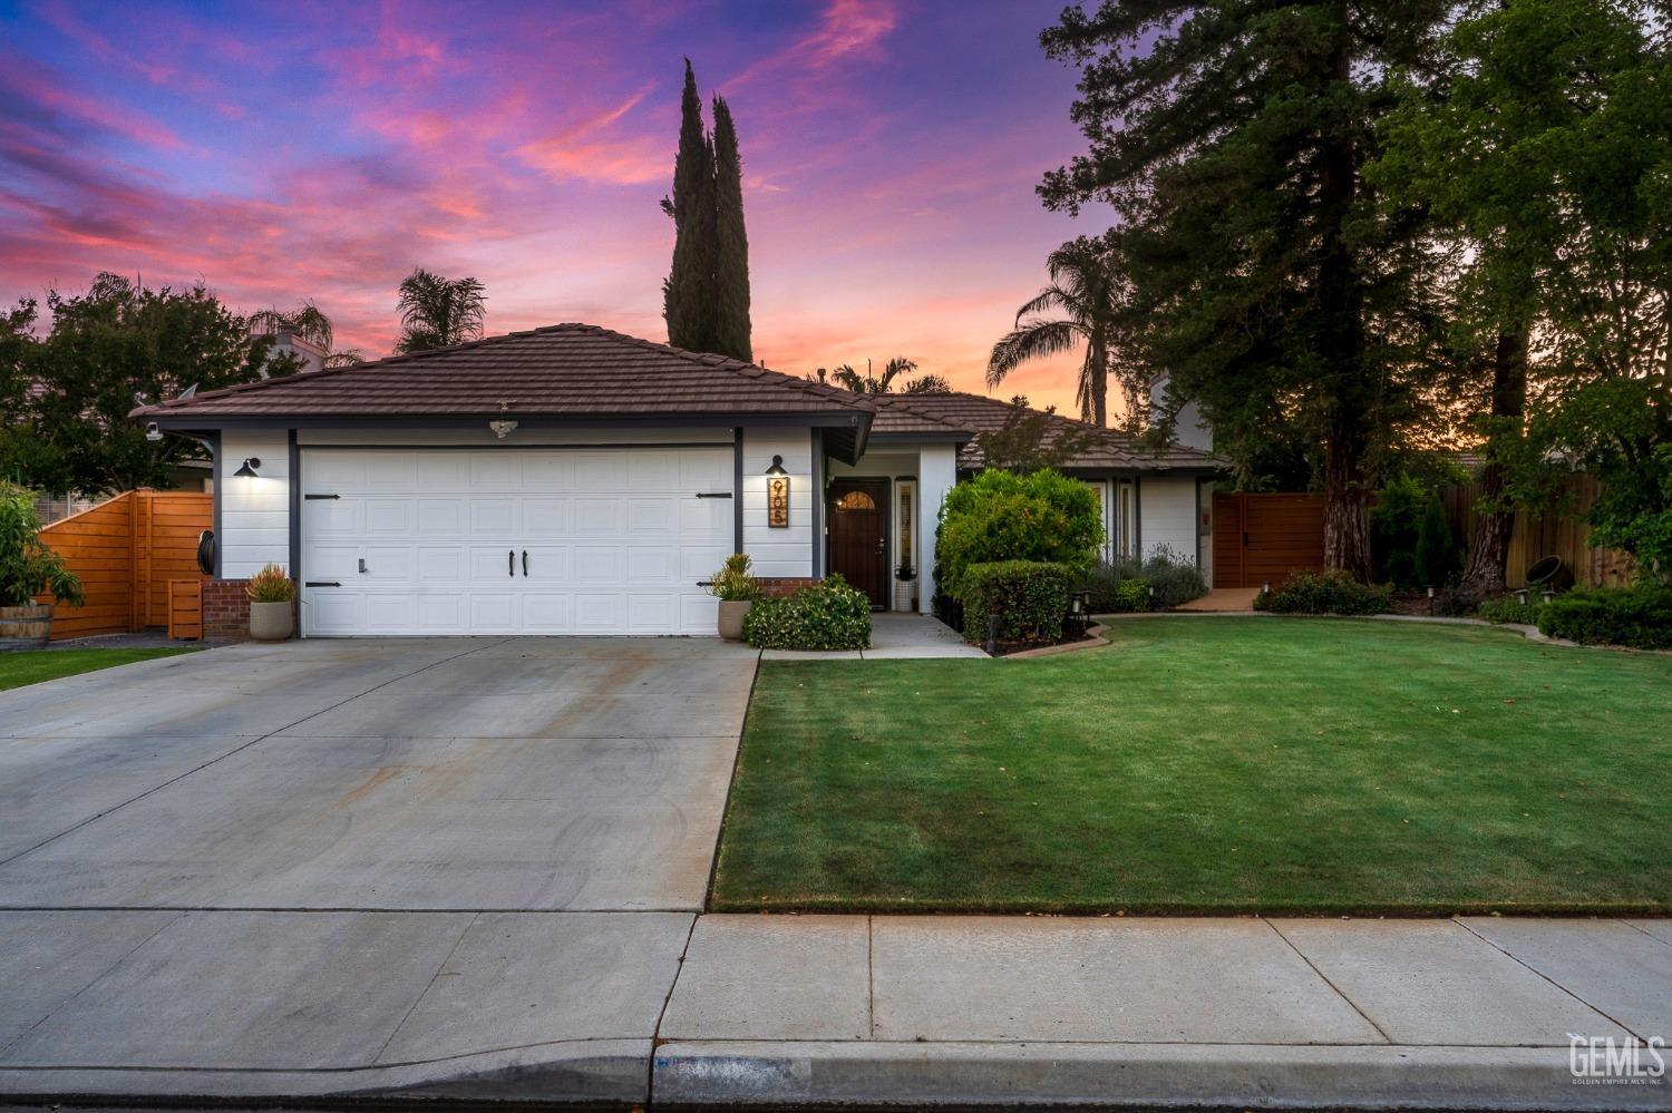
[[[1045,266],[1050,286],[1017,309],[1017,328],[993,344],[986,386],[998,386],[1027,359],[1073,351],[1083,343],[1075,401],[1085,421],[1109,424],[1109,359],[1125,299],[1124,284],[1110,266],[1109,249],[1085,236],[1050,252]],[[1060,309],[1063,316],[1042,318],[1048,309]]]

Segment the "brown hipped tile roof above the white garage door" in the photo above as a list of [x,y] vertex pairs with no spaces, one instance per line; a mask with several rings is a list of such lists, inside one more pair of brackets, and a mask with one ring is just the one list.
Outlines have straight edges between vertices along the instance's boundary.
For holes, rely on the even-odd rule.
[[861,394],[594,324],[244,383],[135,409],[142,418],[477,418],[869,414]]

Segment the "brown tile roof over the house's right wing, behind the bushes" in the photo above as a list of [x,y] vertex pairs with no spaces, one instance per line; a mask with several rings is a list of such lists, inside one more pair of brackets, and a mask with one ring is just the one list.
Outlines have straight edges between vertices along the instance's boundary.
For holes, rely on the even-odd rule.
[[[966,433],[971,440],[958,451],[958,468],[965,471],[975,471],[983,465],[981,445],[976,438],[981,433],[1003,429],[1017,411],[1008,401],[958,391],[950,394],[866,394],[866,398],[876,406],[871,436],[921,435],[933,426]],[[1222,458],[1199,448],[1170,445],[1162,451],[1154,451],[1120,429],[1105,429],[1057,413],[1047,414],[1045,446],[1050,448],[1068,431],[1087,438],[1085,448],[1063,463],[1065,468],[1075,471],[1127,468],[1211,468],[1217,471],[1229,466]]]

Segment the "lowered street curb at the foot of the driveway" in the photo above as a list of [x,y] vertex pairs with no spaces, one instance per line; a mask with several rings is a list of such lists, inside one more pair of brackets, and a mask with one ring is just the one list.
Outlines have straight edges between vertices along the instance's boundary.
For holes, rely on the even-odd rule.
[[0,1106],[50,1098],[87,1103],[251,1103],[451,1100],[642,1105],[649,1039],[575,1039],[451,1060],[346,1070],[0,1066]]

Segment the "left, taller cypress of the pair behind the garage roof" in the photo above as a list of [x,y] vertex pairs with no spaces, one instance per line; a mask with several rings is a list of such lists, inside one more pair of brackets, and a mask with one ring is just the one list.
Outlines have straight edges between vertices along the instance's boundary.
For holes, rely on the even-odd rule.
[[667,343],[714,351],[714,144],[702,130],[702,97],[686,58],[674,196],[662,201],[674,217],[674,267],[662,282]]

